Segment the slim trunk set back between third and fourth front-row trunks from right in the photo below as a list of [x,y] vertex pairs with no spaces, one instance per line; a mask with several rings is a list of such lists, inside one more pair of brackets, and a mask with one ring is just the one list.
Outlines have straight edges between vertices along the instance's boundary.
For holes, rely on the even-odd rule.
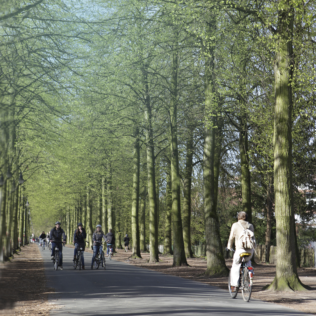
[[171,190],[171,166],[168,164],[166,175],[166,216],[165,216],[165,240],[163,254],[173,255],[172,250],[172,190]]

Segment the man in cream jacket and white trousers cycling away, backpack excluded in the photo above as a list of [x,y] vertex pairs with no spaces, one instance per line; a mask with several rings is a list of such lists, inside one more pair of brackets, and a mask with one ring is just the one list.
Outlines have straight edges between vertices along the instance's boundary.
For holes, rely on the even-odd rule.
[[[230,285],[233,287],[237,287],[238,283],[239,283],[239,271],[240,271],[240,266],[241,266],[241,257],[240,254],[243,252],[249,252],[251,253],[251,256],[248,257],[244,257],[245,261],[246,261],[246,266],[250,267],[251,266],[251,257],[253,254],[253,249],[243,249],[240,248],[240,246],[238,245],[238,239],[239,236],[242,232],[242,227],[240,226],[240,224],[244,227],[244,228],[248,228],[249,230],[251,230],[253,232],[253,226],[252,224],[250,224],[249,222],[247,222],[248,216],[246,212],[239,212],[237,219],[238,222],[234,223],[232,225],[232,228],[230,230],[230,235],[229,235],[229,240],[228,240],[228,244],[227,244],[227,248],[228,250],[231,250],[233,247],[233,242],[235,240],[235,247],[236,247],[236,251],[234,253],[234,257],[233,257],[233,264],[232,264],[232,268],[230,269]],[[235,289],[233,289],[235,290]]]

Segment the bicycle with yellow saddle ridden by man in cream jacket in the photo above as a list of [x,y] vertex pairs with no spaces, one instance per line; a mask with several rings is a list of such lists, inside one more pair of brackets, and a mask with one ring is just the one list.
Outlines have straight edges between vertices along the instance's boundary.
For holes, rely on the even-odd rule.
[[241,259],[241,267],[240,267],[240,277],[239,277],[239,285],[235,290],[232,289],[230,285],[230,271],[228,276],[228,289],[231,298],[236,298],[238,290],[241,289],[242,298],[245,302],[249,302],[252,290],[252,275],[253,275],[253,267],[247,267],[245,257],[251,256],[252,254],[249,252],[243,252],[240,254]]

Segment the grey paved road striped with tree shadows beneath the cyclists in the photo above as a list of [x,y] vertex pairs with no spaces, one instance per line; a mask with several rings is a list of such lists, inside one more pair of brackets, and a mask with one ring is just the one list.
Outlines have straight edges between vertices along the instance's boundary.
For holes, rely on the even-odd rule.
[[115,260],[106,260],[106,270],[90,270],[88,252],[84,254],[88,269],[74,270],[73,249],[68,247],[63,247],[64,270],[55,271],[49,251],[41,254],[47,285],[56,289],[49,300],[59,305],[51,316],[308,315],[258,300],[246,303],[241,294],[233,300],[228,291]]

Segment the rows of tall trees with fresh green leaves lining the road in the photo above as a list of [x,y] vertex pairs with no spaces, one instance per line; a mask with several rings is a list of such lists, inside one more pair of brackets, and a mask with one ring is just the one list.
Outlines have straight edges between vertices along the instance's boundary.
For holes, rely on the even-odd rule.
[[[238,211],[277,246],[273,290],[306,290],[315,238],[313,2],[6,1],[0,15],[0,259],[96,224],[228,275]],[[295,223],[295,215],[297,222]],[[309,227],[309,229],[306,229]],[[299,234],[296,234],[296,231]]]

